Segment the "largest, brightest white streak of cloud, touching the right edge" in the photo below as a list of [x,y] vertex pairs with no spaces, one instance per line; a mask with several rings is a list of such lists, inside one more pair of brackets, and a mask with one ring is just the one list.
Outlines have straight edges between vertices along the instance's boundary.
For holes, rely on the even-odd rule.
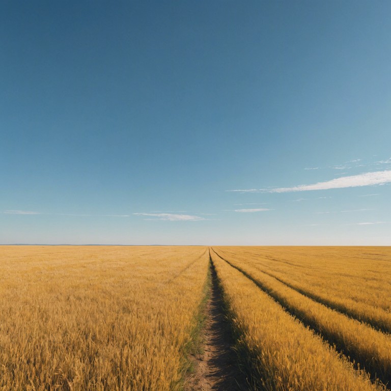
[[330,181],[318,182],[312,185],[299,185],[292,187],[277,187],[271,189],[242,189],[242,190],[227,190],[239,192],[268,192],[268,193],[287,193],[293,191],[309,191],[309,190],[328,190],[340,189],[346,187],[360,187],[383,185],[391,182],[391,170],[376,171],[371,173],[364,173],[358,175],[350,175],[332,179]]

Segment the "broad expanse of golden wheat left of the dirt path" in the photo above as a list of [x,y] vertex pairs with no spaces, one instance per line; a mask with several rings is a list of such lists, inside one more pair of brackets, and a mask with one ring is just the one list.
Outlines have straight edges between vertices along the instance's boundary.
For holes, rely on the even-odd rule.
[[4,246],[0,388],[179,389],[205,247]]

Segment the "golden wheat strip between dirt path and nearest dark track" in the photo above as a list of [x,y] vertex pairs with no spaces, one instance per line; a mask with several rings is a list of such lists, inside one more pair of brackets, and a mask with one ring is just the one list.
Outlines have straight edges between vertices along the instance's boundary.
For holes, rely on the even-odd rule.
[[213,251],[211,258],[238,333],[238,349],[247,355],[253,373],[254,389],[364,391],[378,387],[243,273]]

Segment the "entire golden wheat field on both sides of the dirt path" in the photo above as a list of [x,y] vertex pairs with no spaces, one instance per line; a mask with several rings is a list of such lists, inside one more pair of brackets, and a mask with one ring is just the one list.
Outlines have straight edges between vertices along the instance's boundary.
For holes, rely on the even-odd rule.
[[0,246],[0,389],[191,389],[211,270],[247,389],[391,381],[390,247]]

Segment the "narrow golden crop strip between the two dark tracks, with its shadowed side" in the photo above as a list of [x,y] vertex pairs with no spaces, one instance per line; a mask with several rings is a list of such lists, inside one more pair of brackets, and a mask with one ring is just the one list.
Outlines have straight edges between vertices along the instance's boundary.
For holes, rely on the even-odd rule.
[[384,383],[391,380],[391,337],[388,334],[302,295],[259,270],[252,262],[239,262],[232,256],[222,255],[217,248],[215,251],[222,260],[244,273],[305,325],[358,362],[373,378],[379,378]]

